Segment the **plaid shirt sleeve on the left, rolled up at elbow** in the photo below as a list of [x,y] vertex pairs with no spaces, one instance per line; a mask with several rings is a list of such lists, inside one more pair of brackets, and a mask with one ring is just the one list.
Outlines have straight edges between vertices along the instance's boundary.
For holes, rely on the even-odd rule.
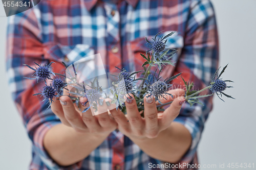
[[[60,124],[60,120],[49,108],[47,100],[40,98],[39,93],[45,83],[37,80],[28,80],[24,77],[31,77],[34,71],[23,64],[31,67],[38,64],[56,62],[53,72],[60,72],[64,67],[60,62],[45,58],[43,35],[38,24],[35,12],[30,9],[8,17],[7,32],[7,74],[12,99],[17,110],[23,119],[28,136],[33,144],[32,169],[77,169],[78,164],[70,167],[60,167],[49,156],[43,145],[44,135],[53,126]],[[38,159],[38,157],[40,159]]]

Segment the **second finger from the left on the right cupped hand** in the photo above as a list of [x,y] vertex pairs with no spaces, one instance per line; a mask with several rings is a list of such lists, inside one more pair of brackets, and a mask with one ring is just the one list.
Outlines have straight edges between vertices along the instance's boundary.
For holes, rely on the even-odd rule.
[[127,111],[127,118],[129,119],[129,123],[132,125],[132,127],[135,129],[142,129],[144,126],[143,121],[138,111],[138,107],[136,101],[134,100],[133,94],[126,96],[125,107]]

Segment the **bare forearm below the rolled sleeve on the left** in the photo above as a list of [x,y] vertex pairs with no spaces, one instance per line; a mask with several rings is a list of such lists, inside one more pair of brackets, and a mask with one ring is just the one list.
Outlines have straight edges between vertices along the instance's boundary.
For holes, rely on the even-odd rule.
[[68,166],[86,158],[108,135],[79,133],[59,124],[46,133],[44,147],[55,162]]

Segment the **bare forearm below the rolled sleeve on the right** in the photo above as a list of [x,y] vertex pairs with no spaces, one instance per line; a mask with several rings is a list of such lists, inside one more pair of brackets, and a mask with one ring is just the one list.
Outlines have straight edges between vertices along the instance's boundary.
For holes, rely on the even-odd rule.
[[149,156],[169,163],[178,162],[189,149],[191,135],[181,124],[173,122],[156,138],[131,138]]

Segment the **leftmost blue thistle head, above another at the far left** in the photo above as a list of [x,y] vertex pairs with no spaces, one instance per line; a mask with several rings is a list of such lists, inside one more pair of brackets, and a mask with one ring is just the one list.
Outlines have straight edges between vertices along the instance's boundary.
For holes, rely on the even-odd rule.
[[51,62],[48,65],[45,63],[45,65],[43,65],[43,66],[35,63],[38,66],[38,68],[35,66],[36,69],[32,68],[31,66],[29,66],[27,64],[23,64],[35,71],[35,73],[32,75],[32,77],[35,77],[35,78],[27,78],[27,77],[25,77],[25,78],[30,79],[30,80],[37,79],[37,82],[38,82],[38,80],[44,80],[46,83],[46,79],[50,79],[51,74],[55,76],[54,72],[52,72],[50,70],[50,68],[52,68],[52,67],[50,67],[52,63],[54,63],[54,62]]

